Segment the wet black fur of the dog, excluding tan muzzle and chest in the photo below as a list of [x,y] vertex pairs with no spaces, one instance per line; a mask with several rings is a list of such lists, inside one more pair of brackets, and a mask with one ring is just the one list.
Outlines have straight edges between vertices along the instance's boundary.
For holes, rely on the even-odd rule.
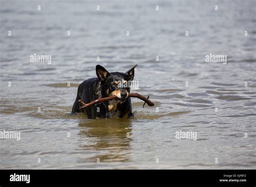
[[[137,66],[137,65],[136,65]],[[100,97],[108,97],[107,89],[109,89],[109,93],[114,90],[126,89],[130,93],[130,88],[117,88],[113,85],[114,81],[121,81],[122,79],[125,81],[132,81],[134,77],[134,68],[132,67],[126,73],[120,72],[112,72],[109,73],[105,68],[100,65],[96,66],[96,74],[97,78],[89,78],[81,83],[78,87],[77,97],[75,103],[72,107],[71,113],[76,112],[84,112],[89,119],[95,118],[109,118],[110,111],[108,110],[108,102],[98,103],[89,107],[86,107],[83,110],[80,110],[79,107],[82,106],[78,103],[78,100],[81,99],[84,103],[90,103],[92,100],[98,99]],[[106,76],[104,76],[106,74]],[[131,117],[132,116],[132,105],[131,98],[126,98],[125,102],[118,103],[117,110],[118,113],[117,118],[123,117]]]

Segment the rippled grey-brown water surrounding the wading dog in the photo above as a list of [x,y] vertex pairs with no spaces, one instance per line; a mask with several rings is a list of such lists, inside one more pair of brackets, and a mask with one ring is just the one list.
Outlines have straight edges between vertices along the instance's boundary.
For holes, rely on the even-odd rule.
[[[256,168],[255,1],[0,2],[0,130],[21,132],[0,139],[1,169]],[[35,53],[51,64],[30,62]],[[132,98],[125,120],[71,115],[96,64],[138,64],[132,92],[156,106]]]

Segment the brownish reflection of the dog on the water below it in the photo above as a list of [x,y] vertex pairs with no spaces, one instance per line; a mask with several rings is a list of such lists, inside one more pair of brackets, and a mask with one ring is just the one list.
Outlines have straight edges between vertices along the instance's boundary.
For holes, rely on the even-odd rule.
[[96,150],[99,155],[80,162],[129,162],[130,138],[132,128],[129,119],[99,119],[79,123],[82,129],[79,138],[90,138],[87,142],[80,142],[78,147],[84,150]]

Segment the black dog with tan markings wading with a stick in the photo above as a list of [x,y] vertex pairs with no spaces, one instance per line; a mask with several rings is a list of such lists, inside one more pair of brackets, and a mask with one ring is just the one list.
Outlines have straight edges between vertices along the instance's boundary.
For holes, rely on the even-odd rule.
[[[84,112],[89,119],[130,118],[132,116],[132,104],[128,93],[130,93],[130,82],[133,80],[136,66],[133,66],[126,73],[109,73],[105,68],[97,65],[98,78],[89,78],[79,85],[72,113]],[[118,99],[98,103],[82,110],[79,109],[82,106],[78,103],[79,99],[84,103],[90,103],[92,100],[113,95],[116,95]]]

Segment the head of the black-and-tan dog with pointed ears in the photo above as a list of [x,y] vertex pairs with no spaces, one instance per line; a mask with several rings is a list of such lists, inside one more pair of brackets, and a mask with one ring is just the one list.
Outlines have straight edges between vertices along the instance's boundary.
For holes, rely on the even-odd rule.
[[134,77],[133,66],[126,73],[112,72],[109,73],[104,67],[97,65],[96,74],[99,78],[100,84],[102,84],[102,92],[106,97],[117,96],[120,103],[125,102],[130,93],[130,84]]

